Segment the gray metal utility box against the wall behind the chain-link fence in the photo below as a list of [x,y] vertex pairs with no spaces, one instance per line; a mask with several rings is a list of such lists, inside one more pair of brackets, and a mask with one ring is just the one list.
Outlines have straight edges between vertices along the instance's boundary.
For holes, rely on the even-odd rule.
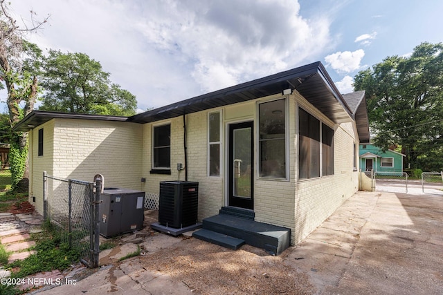
[[101,200],[100,235],[109,238],[143,228],[144,191],[108,187]]

